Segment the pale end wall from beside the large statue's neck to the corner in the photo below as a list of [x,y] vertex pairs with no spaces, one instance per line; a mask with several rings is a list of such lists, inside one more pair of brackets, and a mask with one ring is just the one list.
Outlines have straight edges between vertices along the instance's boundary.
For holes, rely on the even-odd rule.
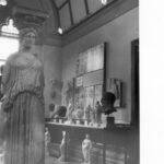
[[[61,48],[58,46],[49,45],[36,45],[33,49],[35,54],[38,54],[40,60],[44,63],[45,75],[45,117],[47,118],[49,113],[49,104],[61,104],[61,90],[60,87],[54,87],[51,82],[61,82]],[[55,91],[55,92],[54,92]],[[54,92],[54,97],[51,93]]]

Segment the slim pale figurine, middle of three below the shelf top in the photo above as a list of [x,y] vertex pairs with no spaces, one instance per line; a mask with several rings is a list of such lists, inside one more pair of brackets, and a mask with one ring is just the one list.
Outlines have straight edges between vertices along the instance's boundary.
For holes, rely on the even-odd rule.
[[62,140],[61,140],[61,144],[60,144],[60,157],[59,161],[60,162],[65,162],[66,161],[66,153],[67,153],[67,147],[68,147],[68,142],[69,142],[69,138],[67,137],[67,132],[62,131]]

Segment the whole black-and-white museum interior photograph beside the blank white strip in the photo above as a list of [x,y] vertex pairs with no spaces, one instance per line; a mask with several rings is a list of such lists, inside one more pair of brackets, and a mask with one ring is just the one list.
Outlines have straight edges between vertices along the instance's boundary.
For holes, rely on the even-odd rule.
[[140,164],[139,0],[0,0],[0,164]]

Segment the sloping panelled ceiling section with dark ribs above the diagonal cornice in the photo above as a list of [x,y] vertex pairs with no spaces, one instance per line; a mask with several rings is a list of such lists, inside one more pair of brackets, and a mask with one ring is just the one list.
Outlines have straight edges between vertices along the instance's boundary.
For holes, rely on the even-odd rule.
[[[50,0],[58,13],[59,26],[68,31],[104,5],[101,0]],[[110,3],[116,0],[108,0]]]

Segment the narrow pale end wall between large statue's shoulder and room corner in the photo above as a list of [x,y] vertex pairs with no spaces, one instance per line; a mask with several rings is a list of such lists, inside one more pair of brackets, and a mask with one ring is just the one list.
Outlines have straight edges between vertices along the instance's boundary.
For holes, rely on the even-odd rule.
[[42,47],[45,73],[45,110],[48,115],[48,105],[50,103],[61,104],[61,91],[56,89],[56,97],[50,97],[51,83],[50,80],[55,79],[61,81],[61,48],[44,45]]

